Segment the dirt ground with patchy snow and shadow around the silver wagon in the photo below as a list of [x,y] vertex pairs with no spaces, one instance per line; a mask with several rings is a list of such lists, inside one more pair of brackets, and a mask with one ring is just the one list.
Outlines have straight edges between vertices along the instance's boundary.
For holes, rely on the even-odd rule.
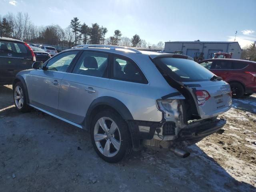
[[0,191],[256,191],[256,94],[232,106],[225,132],[190,146],[188,158],[146,150],[108,164],[88,132],[17,112],[11,86],[0,86]]

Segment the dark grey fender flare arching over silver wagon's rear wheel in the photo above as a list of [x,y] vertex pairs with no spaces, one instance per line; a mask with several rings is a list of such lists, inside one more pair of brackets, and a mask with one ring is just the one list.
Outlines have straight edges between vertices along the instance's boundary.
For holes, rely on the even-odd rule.
[[124,120],[133,120],[130,110],[118,99],[110,96],[96,98],[86,112],[85,127],[90,130],[90,119],[92,111],[100,105],[107,105],[116,110]]

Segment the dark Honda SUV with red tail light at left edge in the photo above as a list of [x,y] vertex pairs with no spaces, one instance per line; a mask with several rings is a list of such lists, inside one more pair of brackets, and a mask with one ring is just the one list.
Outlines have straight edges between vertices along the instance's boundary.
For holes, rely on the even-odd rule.
[[12,84],[19,71],[32,68],[36,57],[28,44],[0,37],[0,85]]

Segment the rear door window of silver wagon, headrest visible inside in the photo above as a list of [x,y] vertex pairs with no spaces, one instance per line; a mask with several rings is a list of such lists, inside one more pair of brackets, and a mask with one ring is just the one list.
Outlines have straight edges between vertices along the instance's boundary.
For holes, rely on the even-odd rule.
[[76,62],[73,73],[94,77],[106,77],[107,66],[107,53],[84,51],[78,62]]

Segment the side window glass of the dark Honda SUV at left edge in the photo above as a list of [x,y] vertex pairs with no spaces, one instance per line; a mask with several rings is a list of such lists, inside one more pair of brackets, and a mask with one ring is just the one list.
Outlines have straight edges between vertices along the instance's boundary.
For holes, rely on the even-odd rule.
[[0,52],[26,54],[28,51],[22,43],[0,41]]

